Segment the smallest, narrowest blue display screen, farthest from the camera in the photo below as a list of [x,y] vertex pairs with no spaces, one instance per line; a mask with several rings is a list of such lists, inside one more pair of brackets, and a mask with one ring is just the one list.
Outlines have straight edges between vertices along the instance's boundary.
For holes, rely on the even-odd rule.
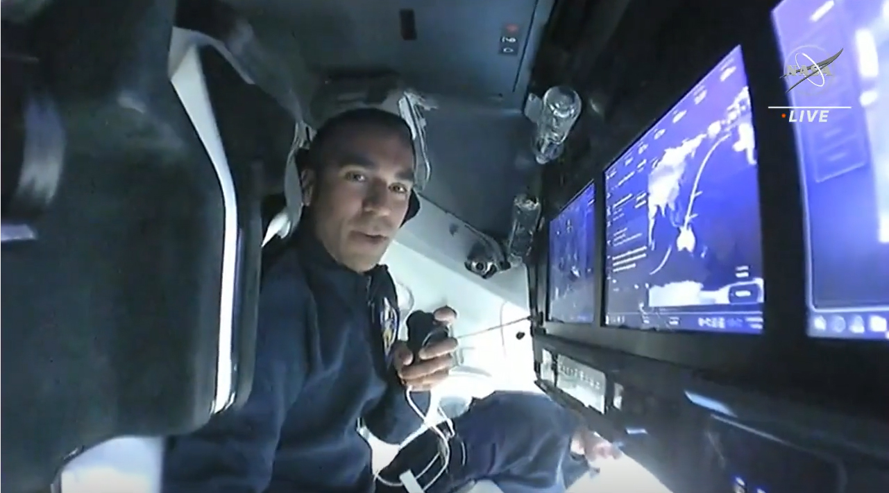
[[596,306],[594,187],[588,187],[549,223],[549,319],[589,323]]

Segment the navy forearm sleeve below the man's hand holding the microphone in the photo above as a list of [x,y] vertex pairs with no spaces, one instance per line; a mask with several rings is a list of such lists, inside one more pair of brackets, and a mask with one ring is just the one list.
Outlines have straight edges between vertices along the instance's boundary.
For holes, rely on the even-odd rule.
[[[412,409],[408,395],[420,414]],[[407,394],[404,386],[392,372],[386,393],[383,394],[380,403],[364,417],[364,425],[381,441],[400,444],[423,425],[423,417],[429,412],[429,402],[428,392]]]

